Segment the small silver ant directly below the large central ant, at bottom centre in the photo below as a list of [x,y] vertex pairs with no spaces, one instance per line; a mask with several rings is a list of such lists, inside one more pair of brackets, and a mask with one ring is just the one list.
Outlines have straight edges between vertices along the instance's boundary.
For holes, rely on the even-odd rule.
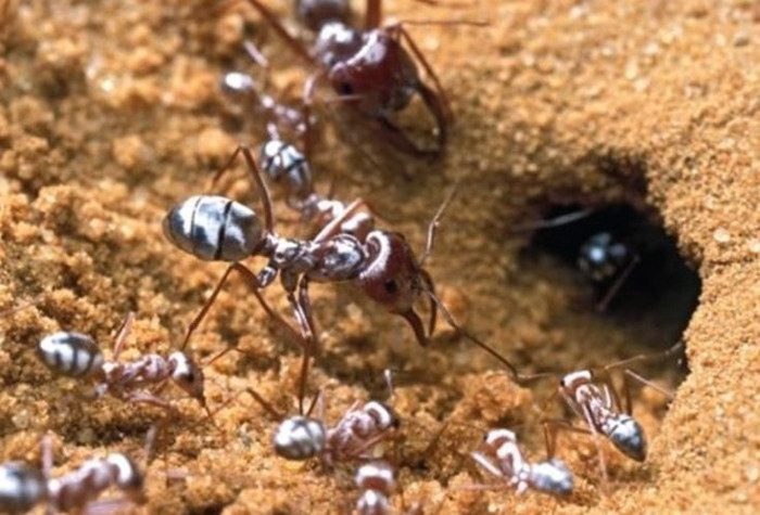
[[[382,402],[369,401],[364,405],[356,402],[334,426],[327,427],[324,414],[312,416],[317,401],[320,411],[324,411],[321,392],[305,413],[301,411],[299,415],[286,417],[256,390],[246,388],[246,391],[275,420],[280,421],[273,442],[275,452],[287,460],[319,456],[326,465],[332,466],[334,463],[370,459],[369,451],[398,427],[398,419]],[[299,403],[303,405],[301,400]]]

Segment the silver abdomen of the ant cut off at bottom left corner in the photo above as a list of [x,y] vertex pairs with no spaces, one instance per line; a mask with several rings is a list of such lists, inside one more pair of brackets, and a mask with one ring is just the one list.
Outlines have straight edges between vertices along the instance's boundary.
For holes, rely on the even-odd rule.
[[0,512],[27,512],[47,494],[48,486],[39,471],[22,462],[0,465]]

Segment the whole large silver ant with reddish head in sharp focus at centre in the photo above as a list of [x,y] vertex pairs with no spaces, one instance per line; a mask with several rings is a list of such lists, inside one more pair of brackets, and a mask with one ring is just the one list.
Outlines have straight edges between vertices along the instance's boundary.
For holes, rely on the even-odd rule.
[[[438,298],[433,280],[423,268],[432,252],[440,219],[455,190],[444,199],[428,226],[427,245],[422,257],[418,260],[406,239],[397,232],[376,229],[364,235],[364,239],[358,239],[342,231],[342,223],[354,215],[363,204],[362,201],[354,201],[346,206],[340,216],[322,227],[311,240],[278,235],[274,230],[269,190],[251,150],[239,146],[227,166],[230,166],[239,154],[243,155],[249,175],[254,185],[262,192],[263,222],[253,209],[229,198],[212,195],[191,196],[173,207],[163,220],[167,240],[181,250],[203,260],[231,261],[208,300],[190,323],[185,343],[201,323],[232,271],[245,278],[264,310],[293,334],[294,331],[274,313],[259,292],[269,286],[279,273],[280,283],[301,330],[299,343],[304,349],[304,369],[308,366],[309,356],[316,355],[318,349],[308,298],[309,282],[350,282],[390,312],[403,317],[411,326],[420,345],[428,344],[434,331],[438,311],[441,311],[452,327],[494,356],[509,369],[512,376],[517,376],[517,371],[509,361],[454,321]],[[252,256],[269,259],[258,273],[252,272],[239,262]],[[415,302],[422,295],[430,300],[430,320],[427,331],[414,309]],[[302,389],[300,398],[303,399],[303,397]]]

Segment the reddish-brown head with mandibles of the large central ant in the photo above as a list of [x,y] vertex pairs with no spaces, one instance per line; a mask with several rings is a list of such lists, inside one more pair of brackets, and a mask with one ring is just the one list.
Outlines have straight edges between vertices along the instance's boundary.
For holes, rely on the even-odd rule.
[[366,245],[370,260],[356,284],[390,312],[404,317],[419,343],[427,344],[428,336],[414,305],[429,281],[428,274],[402,234],[372,231],[367,235]]

